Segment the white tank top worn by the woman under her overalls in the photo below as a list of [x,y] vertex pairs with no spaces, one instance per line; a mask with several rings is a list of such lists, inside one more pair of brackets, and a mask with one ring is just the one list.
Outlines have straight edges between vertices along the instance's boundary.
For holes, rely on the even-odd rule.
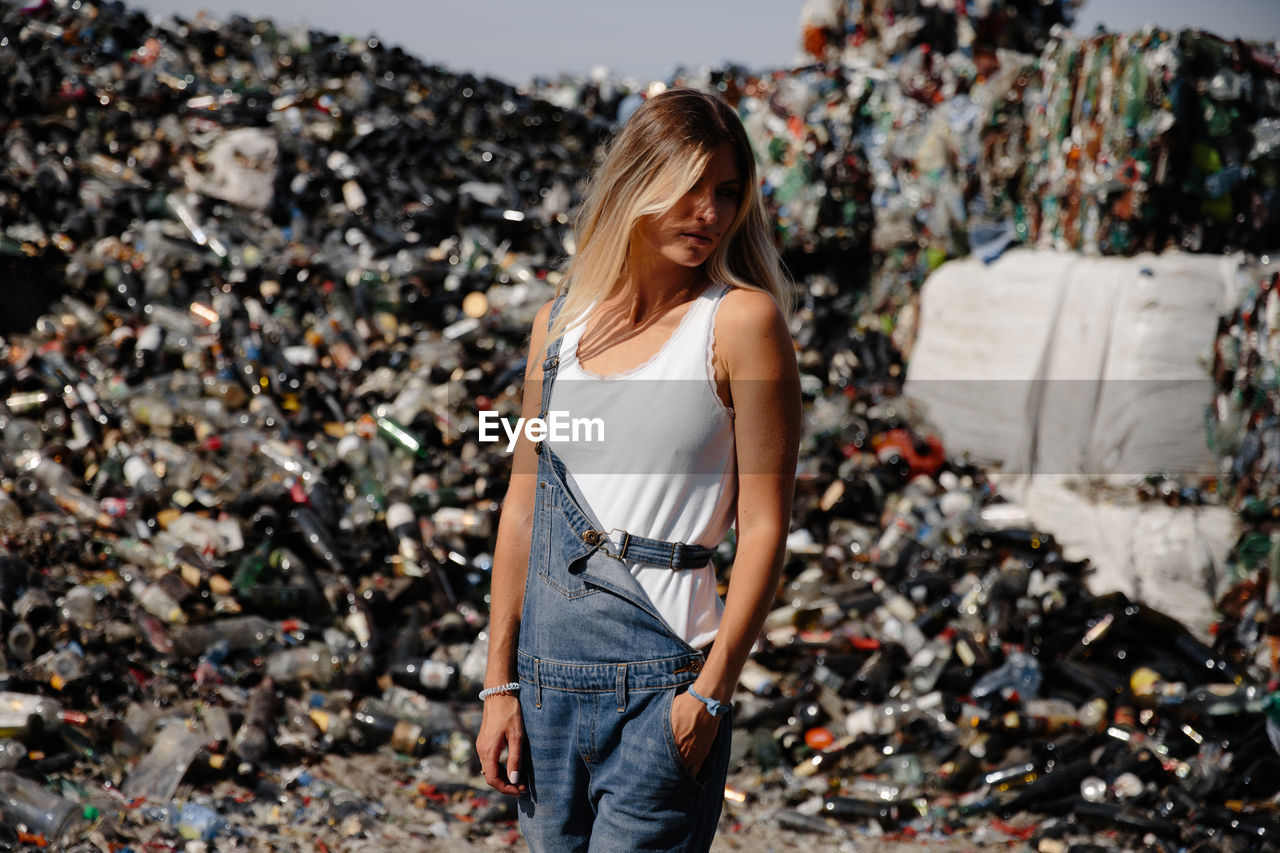
[[[564,425],[547,443],[605,532],[714,548],[733,523],[733,411],[716,393],[712,365],[716,313],[730,287],[708,286],[662,348],[623,373],[584,370],[577,342],[586,324],[566,332],[548,410]],[[600,419],[603,441],[582,423],[575,441],[572,421],[584,418]],[[694,648],[716,638],[724,603],[709,564],[627,567],[677,637]]]

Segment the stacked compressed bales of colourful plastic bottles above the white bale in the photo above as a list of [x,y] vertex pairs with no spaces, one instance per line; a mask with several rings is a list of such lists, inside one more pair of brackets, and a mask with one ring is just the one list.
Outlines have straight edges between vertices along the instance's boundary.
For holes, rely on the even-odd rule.
[[1011,245],[1274,250],[1276,46],[1070,20],[1062,3],[810,3],[810,64],[677,82],[739,106],[796,269],[886,323],[945,260]]

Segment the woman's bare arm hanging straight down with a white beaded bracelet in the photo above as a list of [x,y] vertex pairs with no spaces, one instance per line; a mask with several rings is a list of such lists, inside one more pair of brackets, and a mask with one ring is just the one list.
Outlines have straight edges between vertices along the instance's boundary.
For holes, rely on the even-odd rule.
[[[534,319],[529,345],[530,362],[525,368],[522,418],[536,418],[541,409],[543,364],[532,357],[541,351],[547,338],[548,302]],[[511,483],[502,502],[498,540],[493,553],[493,576],[489,585],[489,657],[485,665],[486,688],[516,681],[516,644],[520,639],[520,611],[525,602],[525,574],[529,570],[530,534],[534,528],[534,488],[538,480],[538,459],[524,430],[512,456]],[[484,703],[476,754],[485,781],[503,794],[520,794],[520,751],[525,740],[520,701],[515,695],[490,695]],[[507,751],[506,765],[502,752]]]

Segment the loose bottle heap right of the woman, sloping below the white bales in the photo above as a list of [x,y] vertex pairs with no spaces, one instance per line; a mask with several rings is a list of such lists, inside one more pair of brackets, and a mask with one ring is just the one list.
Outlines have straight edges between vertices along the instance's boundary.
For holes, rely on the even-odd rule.
[[1274,844],[1265,576],[1224,597],[1231,616],[1201,643],[1091,594],[1088,564],[945,460],[897,401],[817,400],[813,418],[804,530],[744,676],[742,793],[781,783],[777,818],[823,834],[836,817],[934,840],[979,826],[1032,849],[1085,827],[1107,849]]

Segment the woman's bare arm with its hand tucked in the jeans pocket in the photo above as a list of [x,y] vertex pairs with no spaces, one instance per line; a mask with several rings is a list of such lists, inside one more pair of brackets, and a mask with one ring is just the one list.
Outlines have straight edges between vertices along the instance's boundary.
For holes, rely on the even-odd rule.
[[[694,681],[699,694],[728,702],[753,643],[773,605],[791,526],[800,444],[800,373],[786,320],[767,293],[737,288],[717,316],[717,356],[728,373],[737,452],[737,556],[724,616],[707,663]],[[717,720],[698,699],[681,694],[672,710],[677,743],[692,726],[685,753],[696,770],[710,749]],[[682,753],[685,743],[681,743]]]

